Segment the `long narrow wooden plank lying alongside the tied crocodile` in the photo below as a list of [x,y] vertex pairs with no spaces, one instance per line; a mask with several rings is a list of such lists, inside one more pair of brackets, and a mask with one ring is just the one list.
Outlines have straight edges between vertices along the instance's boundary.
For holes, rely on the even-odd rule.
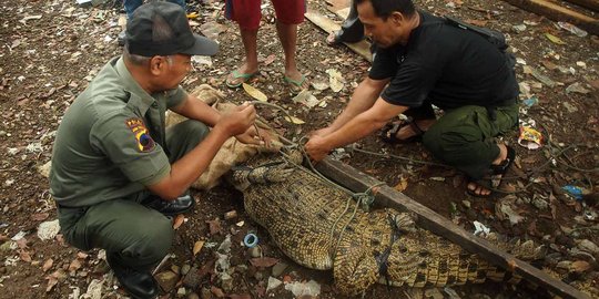
[[[318,163],[316,169],[326,177],[332,178],[353,192],[364,192],[370,186],[380,184],[380,181],[329,157],[326,157]],[[557,296],[562,298],[590,298],[570,285],[557,280],[529,264],[499,250],[488,241],[475,237],[473,234],[456,226],[434,210],[420,205],[387,185],[384,185],[376,190],[375,203],[380,206],[393,207],[398,210],[416,214],[418,217],[417,224],[422,228],[428,229],[434,234],[458,244],[464,249],[479,255],[491,264],[515,271],[524,279],[537,283]]]

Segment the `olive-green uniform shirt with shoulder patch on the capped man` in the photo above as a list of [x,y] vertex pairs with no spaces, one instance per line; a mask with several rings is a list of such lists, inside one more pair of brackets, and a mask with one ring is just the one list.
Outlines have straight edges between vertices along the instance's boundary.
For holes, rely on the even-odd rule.
[[52,152],[50,192],[63,206],[135,196],[165,177],[164,113],[187,94],[148,94],[120,58],[111,60],[67,110]]

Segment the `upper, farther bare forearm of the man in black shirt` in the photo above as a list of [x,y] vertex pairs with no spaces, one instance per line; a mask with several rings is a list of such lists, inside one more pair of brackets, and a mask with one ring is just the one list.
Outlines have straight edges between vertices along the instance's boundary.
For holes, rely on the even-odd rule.
[[337,131],[356,115],[373,107],[375,101],[378,99],[380,92],[383,92],[383,89],[385,89],[390,79],[373,80],[370,78],[366,78],[365,80],[363,80],[354,91],[354,94],[352,95],[352,100],[349,100],[347,107],[337,116],[337,118],[335,118],[333,124],[331,124],[328,127],[317,131],[315,135],[326,136]]

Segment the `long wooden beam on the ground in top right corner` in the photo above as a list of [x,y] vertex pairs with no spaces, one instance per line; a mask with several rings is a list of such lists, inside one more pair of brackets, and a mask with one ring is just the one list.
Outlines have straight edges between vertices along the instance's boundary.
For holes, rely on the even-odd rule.
[[573,10],[560,7],[557,3],[546,0],[504,0],[512,6],[528,10],[530,12],[542,14],[554,21],[567,21],[580,27],[591,34],[599,35],[599,20],[576,12]]

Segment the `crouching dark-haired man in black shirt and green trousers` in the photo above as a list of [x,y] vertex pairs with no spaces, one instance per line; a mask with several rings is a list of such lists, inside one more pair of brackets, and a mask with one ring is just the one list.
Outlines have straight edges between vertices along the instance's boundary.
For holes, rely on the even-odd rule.
[[[313,133],[307,153],[319,161],[406,112],[414,121],[387,127],[386,140],[422,136],[437,158],[470,177],[470,194],[489,195],[515,155],[495,141],[518,122],[518,84],[506,54],[475,32],[417,11],[412,0],[356,2],[376,43],[373,66],[344,112]],[[438,120],[432,104],[445,112]]]

